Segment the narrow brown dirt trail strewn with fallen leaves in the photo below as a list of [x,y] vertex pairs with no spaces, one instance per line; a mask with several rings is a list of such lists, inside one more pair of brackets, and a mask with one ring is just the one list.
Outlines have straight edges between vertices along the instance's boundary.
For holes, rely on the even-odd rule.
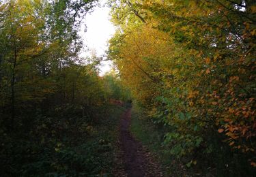
[[131,109],[122,116],[120,123],[119,148],[121,150],[124,171],[127,176],[162,176],[160,167],[150,153],[146,152],[139,142],[134,140],[130,133]]

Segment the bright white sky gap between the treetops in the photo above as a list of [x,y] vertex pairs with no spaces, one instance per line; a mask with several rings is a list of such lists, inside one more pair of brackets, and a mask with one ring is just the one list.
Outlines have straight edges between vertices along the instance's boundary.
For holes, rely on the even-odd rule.
[[[115,33],[115,27],[110,21],[110,8],[106,3],[106,0],[99,1],[99,5],[85,16],[79,32],[85,45],[80,56],[84,58],[101,58],[102,61],[99,65],[100,76],[111,71],[113,67],[112,61],[106,58],[106,50],[108,48],[108,40]],[[85,63],[87,62],[91,61],[85,61]]]

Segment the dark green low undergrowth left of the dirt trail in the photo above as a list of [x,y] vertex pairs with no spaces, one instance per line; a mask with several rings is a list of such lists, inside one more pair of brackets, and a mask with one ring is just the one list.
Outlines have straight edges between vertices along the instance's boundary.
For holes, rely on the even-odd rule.
[[96,110],[96,122],[66,107],[51,116],[38,115],[27,129],[1,134],[1,176],[111,176],[125,108]]

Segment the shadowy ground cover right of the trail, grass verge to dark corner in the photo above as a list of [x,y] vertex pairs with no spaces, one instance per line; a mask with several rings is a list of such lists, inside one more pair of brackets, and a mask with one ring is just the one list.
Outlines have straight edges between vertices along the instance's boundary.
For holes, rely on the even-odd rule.
[[[147,150],[153,153],[156,160],[162,165],[165,176],[254,176],[253,171],[246,165],[242,155],[229,151],[229,146],[223,142],[220,146],[218,140],[211,139],[215,150],[206,156],[205,149],[198,149],[193,157],[186,155],[177,158],[164,143],[165,134],[171,132],[163,124],[152,121],[138,108],[132,109],[132,122],[130,130]],[[197,161],[190,161],[191,158]]]

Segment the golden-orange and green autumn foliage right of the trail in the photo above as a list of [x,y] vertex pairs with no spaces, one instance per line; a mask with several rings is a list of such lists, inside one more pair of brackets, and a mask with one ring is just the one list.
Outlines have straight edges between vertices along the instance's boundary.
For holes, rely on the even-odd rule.
[[209,154],[223,140],[255,166],[255,7],[113,1],[109,57],[145,113],[168,127],[173,155]]

